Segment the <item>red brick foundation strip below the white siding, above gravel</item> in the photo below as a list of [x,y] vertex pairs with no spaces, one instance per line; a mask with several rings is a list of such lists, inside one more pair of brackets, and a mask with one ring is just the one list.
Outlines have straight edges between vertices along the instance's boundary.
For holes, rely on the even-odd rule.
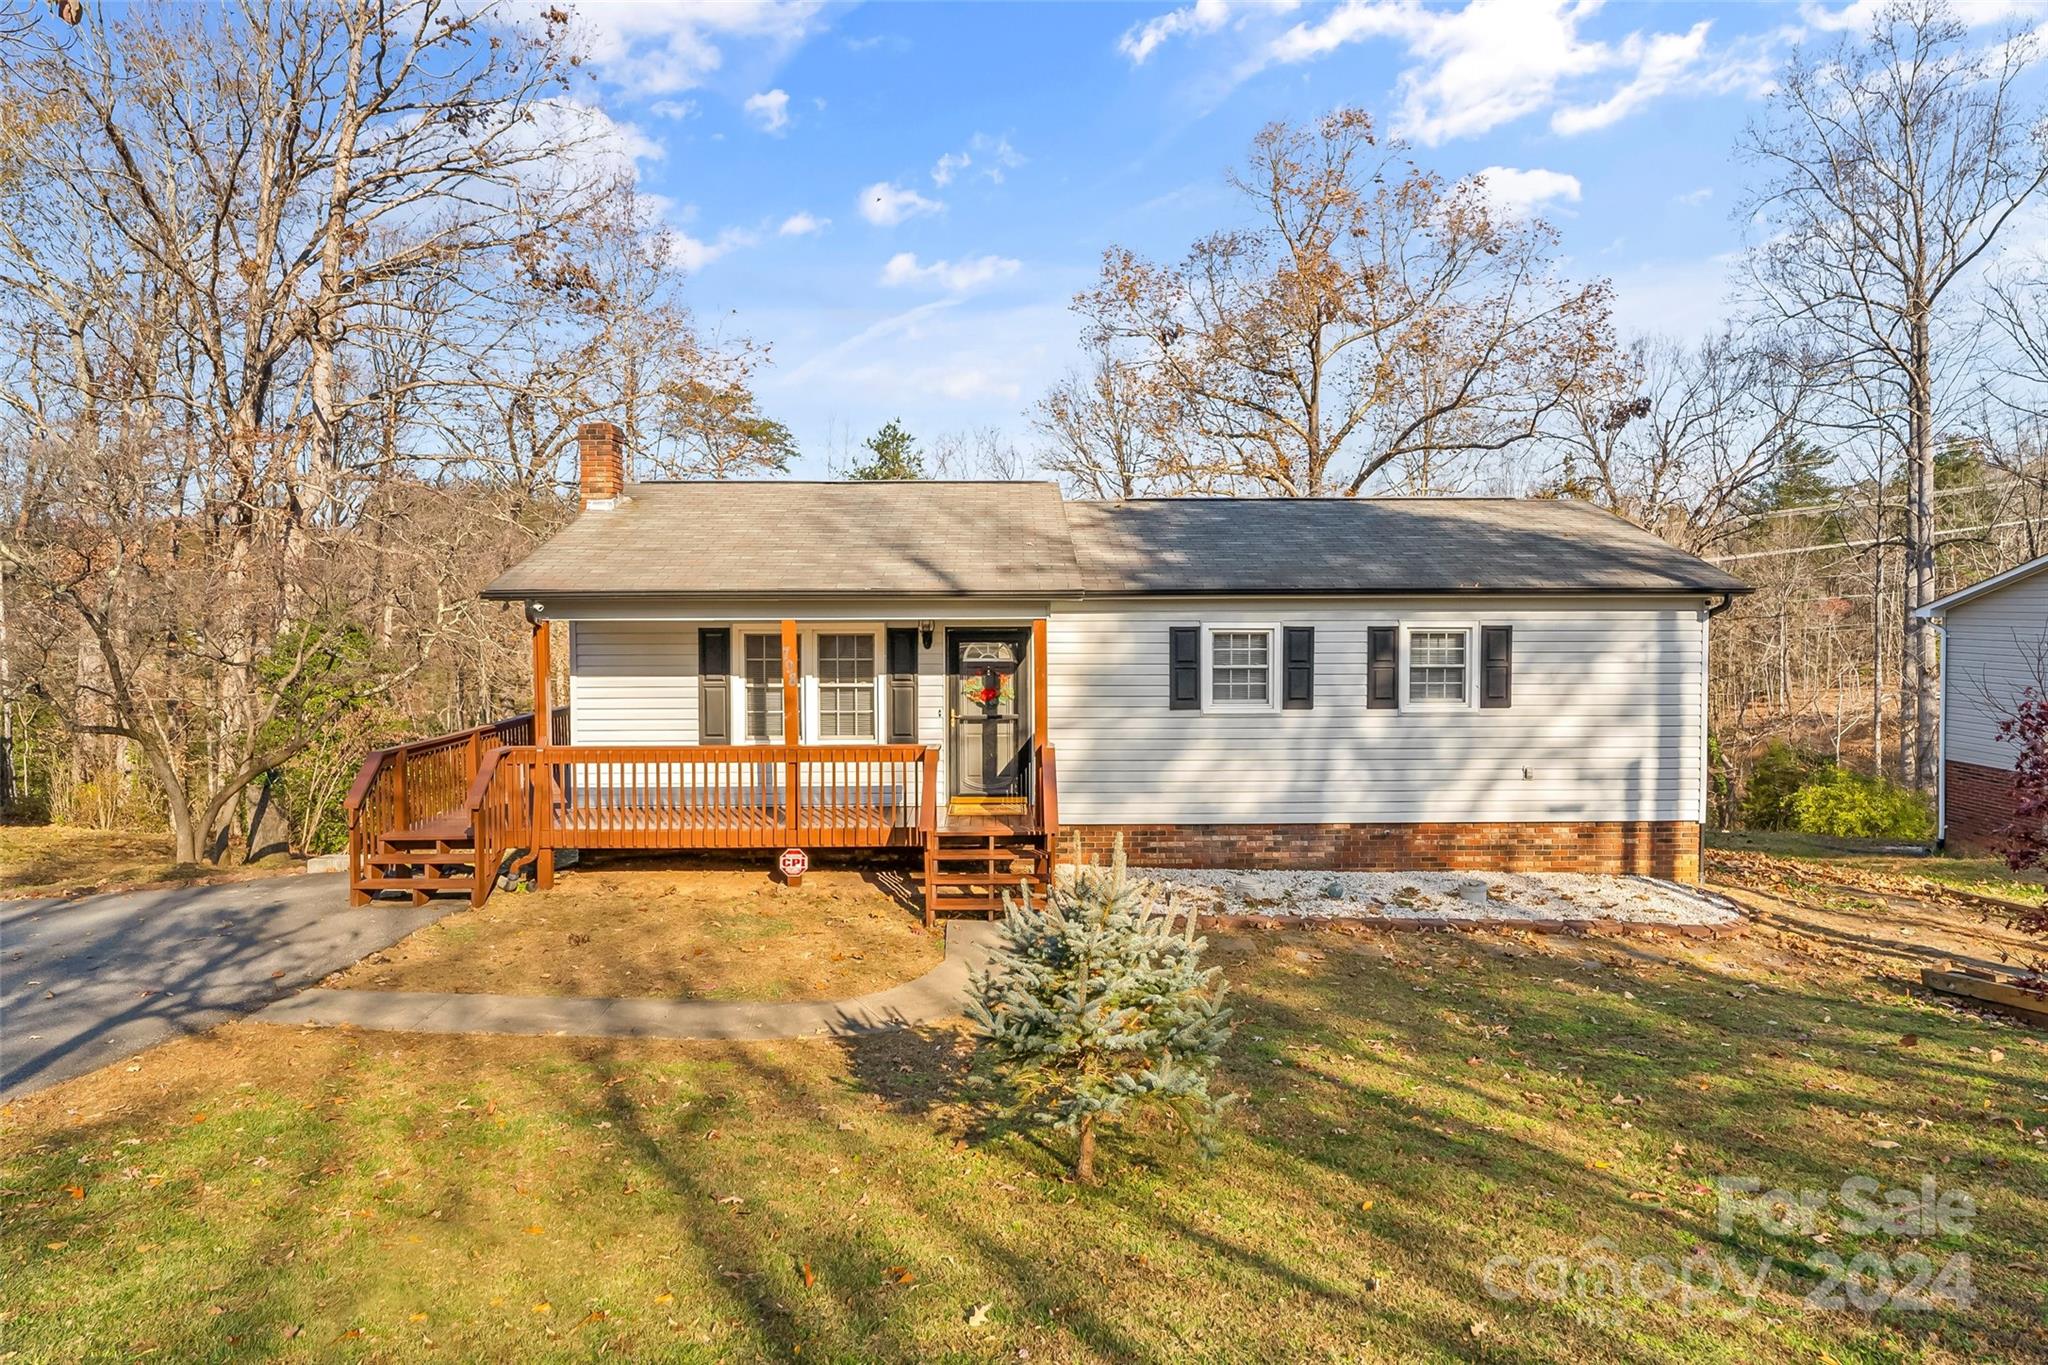
[[1356,872],[1634,872],[1700,880],[1692,821],[1561,825],[1063,825],[1065,855],[1108,857],[1116,835],[1141,868],[1317,868]]

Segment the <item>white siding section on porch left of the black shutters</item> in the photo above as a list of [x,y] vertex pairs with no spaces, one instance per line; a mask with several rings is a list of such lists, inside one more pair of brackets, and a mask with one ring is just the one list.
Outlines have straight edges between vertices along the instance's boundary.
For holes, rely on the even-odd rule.
[[696,626],[569,622],[569,737],[580,745],[694,745]]

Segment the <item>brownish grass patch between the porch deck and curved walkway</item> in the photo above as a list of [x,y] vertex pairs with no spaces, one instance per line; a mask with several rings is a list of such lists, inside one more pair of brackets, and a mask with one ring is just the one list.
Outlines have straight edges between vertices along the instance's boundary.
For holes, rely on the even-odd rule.
[[498,995],[838,1001],[922,976],[944,937],[864,868],[801,888],[762,868],[594,864],[498,892],[328,986]]

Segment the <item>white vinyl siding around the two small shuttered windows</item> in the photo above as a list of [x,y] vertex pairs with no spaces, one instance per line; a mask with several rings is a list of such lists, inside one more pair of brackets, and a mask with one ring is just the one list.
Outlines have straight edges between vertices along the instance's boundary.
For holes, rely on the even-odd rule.
[[[1059,602],[1069,825],[1698,821],[1704,602]],[[1169,710],[1167,628],[1315,626],[1313,710]],[[1513,626],[1513,706],[1366,708],[1366,632]],[[1278,634],[1276,634],[1278,639]],[[1403,659],[1403,669],[1407,659]],[[1475,686],[1466,645],[1466,694]]]

